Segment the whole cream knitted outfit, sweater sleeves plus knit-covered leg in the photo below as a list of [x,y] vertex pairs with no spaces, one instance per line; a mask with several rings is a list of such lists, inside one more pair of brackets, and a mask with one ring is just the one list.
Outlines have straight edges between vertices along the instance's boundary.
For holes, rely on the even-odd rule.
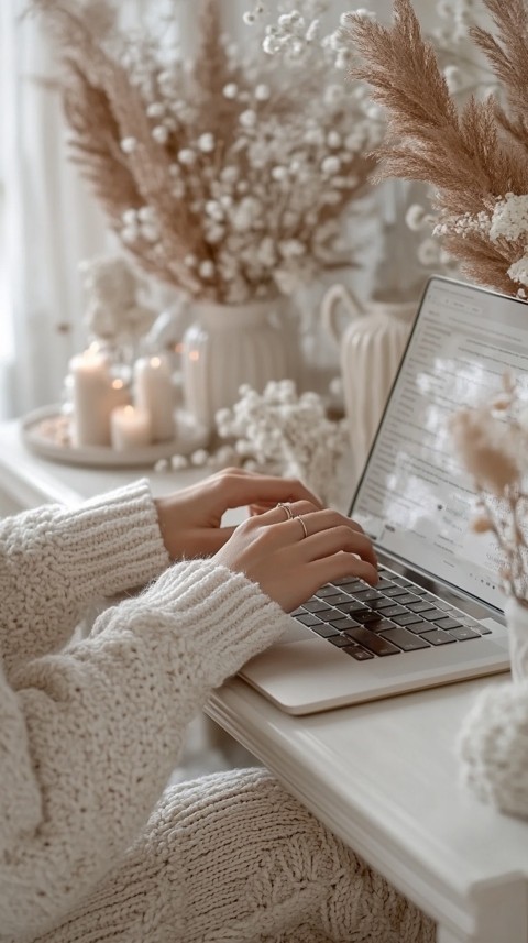
[[167,564],[146,482],[0,524],[1,943],[432,940],[265,771],[160,800],[189,719],[286,625],[244,577]]

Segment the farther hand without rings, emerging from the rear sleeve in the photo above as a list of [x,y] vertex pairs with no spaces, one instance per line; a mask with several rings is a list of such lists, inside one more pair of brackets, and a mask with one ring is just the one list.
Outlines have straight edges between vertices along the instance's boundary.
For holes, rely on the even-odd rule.
[[317,497],[295,479],[224,469],[154,503],[165,547],[172,560],[179,560],[209,557],[223,547],[235,529],[221,526],[228,508],[249,506],[260,514],[279,501],[301,498],[320,507]]

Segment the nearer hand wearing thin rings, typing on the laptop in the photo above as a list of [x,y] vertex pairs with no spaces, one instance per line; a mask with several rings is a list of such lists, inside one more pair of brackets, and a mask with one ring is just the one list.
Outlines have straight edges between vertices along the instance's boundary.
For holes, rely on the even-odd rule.
[[297,501],[290,511],[292,519],[284,507],[274,507],[245,520],[215,559],[245,573],[286,612],[342,577],[375,585],[376,555],[359,524],[310,501]]

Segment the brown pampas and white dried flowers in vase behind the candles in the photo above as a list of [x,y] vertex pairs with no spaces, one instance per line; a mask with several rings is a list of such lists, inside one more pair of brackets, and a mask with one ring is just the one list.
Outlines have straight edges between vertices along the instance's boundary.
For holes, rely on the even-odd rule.
[[350,263],[343,211],[382,125],[359,84],[344,94],[339,50],[314,44],[309,69],[285,59],[277,77],[263,30],[240,47],[222,35],[218,0],[191,59],[172,39],[177,0],[146,35],[118,28],[116,0],[31,6],[59,48],[74,158],[146,272],[239,304]]

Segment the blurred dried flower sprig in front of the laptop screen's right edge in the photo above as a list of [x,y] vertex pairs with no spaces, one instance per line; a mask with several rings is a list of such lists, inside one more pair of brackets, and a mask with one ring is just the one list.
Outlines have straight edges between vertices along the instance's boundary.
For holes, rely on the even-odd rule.
[[493,534],[507,595],[528,606],[528,399],[509,375],[485,404],[459,409],[453,443],[477,495],[473,530]]

